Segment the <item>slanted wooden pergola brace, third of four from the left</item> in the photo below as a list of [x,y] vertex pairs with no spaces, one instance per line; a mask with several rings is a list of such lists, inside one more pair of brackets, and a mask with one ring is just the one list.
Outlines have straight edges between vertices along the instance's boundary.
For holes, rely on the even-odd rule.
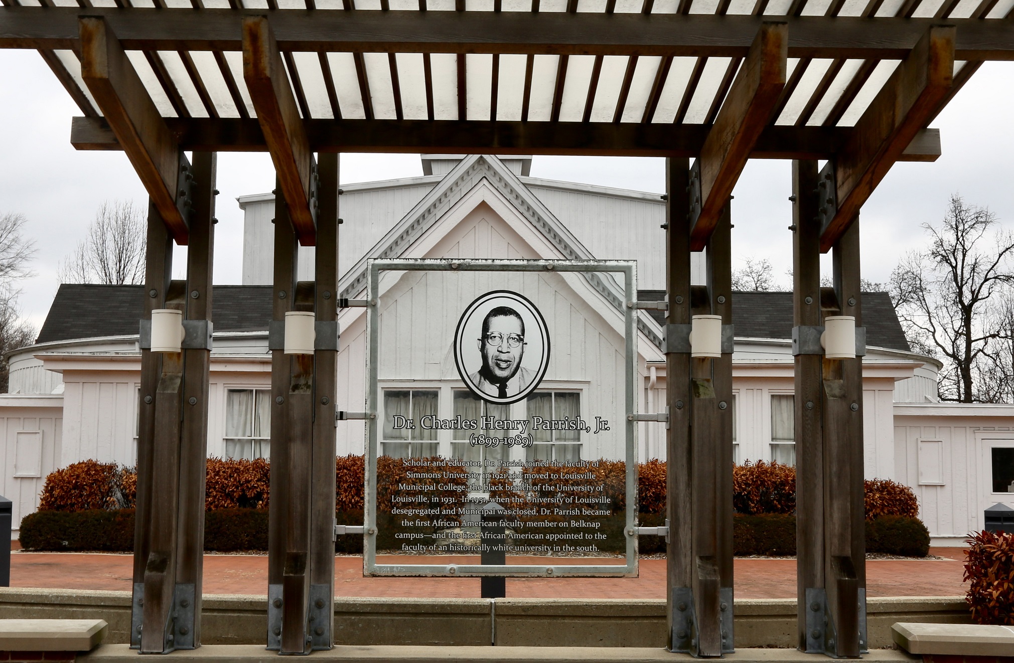
[[691,248],[701,250],[718,225],[736,179],[768,126],[785,87],[788,28],[764,23],[701,148],[700,214]]

